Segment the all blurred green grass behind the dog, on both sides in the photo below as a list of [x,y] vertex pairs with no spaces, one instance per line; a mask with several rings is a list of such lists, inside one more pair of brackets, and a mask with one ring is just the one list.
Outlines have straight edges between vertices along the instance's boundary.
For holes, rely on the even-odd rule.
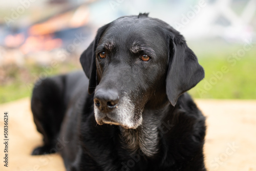
[[[245,55],[234,64],[227,59],[233,53],[243,49],[242,44],[230,46],[217,42],[215,46],[192,44],[189,47],[195,51],[199,63],[205,70],[205,78],[189,91],[190,95],[194,98],[256,99],[256,48],[246,51]],[[214,73],[220,74],[223,66],[227,67],[228,72],[222,72],[222,76],[219,75],[217,78]],[[0,103],[31,96],[33,82],[41,73],[46,72],[46,67],[31,63],[27,63],[22,68],[11,66],[8,69],[7,82],[0,86]],[[76,69],[81,69],[78,59],[61,63],[47,75],[66,73]],[[212,81],[214,84],[210,83]]]

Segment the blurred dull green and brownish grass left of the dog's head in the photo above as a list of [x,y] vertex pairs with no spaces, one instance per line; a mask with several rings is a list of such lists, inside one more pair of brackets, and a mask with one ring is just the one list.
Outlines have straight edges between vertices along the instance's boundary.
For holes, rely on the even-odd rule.
[[[78,60],[78,59],[77,59]],[[61,67],[49,69],[47,66],[26,63],[23,67],[15,65],[4,68],[7,70],[8,79],[0,86],[0,103],[6,103],[24,97],[31,97],[33,84],[39,76],[52,76],[81,69],[78,61],[61,63]]]

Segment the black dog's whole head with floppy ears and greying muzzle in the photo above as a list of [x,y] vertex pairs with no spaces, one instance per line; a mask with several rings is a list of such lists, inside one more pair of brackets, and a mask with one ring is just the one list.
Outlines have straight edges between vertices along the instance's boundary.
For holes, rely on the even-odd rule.
[[147,14],[101,27],[80,62],[94,94],[98,124],[135,129],[145,109],[174,106],[204,70],[178,31]]

